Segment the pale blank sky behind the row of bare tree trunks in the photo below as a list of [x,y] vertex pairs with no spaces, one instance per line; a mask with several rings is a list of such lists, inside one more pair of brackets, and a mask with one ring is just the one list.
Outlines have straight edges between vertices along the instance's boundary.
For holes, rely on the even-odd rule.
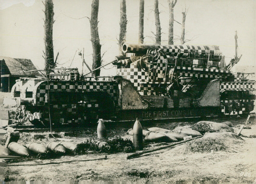
[[[54,56],[58,67],[77,67],[82,72],[78,55],[84,48],[85,61],[92,66],[90,23],[92,0],[53,0]],[[138,43],[139,0],[126,0],[126,43]],[[185,24],[187,45],[217,45],[226,56],[226,63],[235,55],[235,31],[238,35],[239,66],[256,65],[256,1],[255,0],[178,0],[174,19],[182,22],[181,12],[188,10]],[[154,44],[156,33],[154,0],[145,0],[144,43]],[[0,56],[31,59],[44,68],[44,4],[42,0],[0,0]],[[162,43],[168,45],[169,7],[159,0]],[[99,36],[103,64],[118,55],[120,0],[100,0]],[[88,17],[88,18],[87,18]],[[174,22],[174,39],[180,36],[181,25]],[[152,33],[153,32],[153,33]],[[175,40],[174,45],[179,45]],[[85,68],[83,73],[87,73]],[[115,75],[112,64],[101,69],[101,75]]]

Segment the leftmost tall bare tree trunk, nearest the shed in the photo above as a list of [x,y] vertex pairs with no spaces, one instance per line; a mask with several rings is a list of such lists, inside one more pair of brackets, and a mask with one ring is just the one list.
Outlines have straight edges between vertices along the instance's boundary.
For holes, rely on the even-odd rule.
[[[52,41],[52,26],[53,26],[53,3],[52,0],[45,0],[45,20],[44,20],[44,44],[45,44],[45,69],[54,68],[54,54]],[[50,71],[46,72],[49,77]]]

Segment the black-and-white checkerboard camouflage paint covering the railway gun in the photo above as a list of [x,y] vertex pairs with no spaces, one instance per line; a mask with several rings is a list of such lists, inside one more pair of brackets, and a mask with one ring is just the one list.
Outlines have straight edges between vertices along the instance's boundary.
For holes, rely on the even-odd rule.
[[[197,106],[194,106],[196,104],[194,102],[207,94],[208,85],[215,79],[218,80],[216,85],[219,87],[216,89],[220,96],[217,108],[222,114],[243,115],[253,109],[253,99],[249,95],[249,91],[255,90],[255,81],[248,81],[244,74],[232,74],[230,70],[219,69],[218,64],[222,56],[218,46],[134,44],[124,44],[124,46],[125,53],[135,53],[134,56],[148,54],[150,50],[157,50],[160,53],[159,57],[151,63],[152,68],[141,68],[140,60],[133,61],[128,65],[128,60],[126,60],[122,62],[122,66],[116,69],[116,77],[122,76],[122,80],[126,80],[126,86],[132,86],[128,93],[133,93],[134,90],[134,94],[137,96],[134,99],[139,101],[142,99],[141,103],[146,103],[149,106],[148,110],[165,107],[169,108],[168,110],[191,108],[196,111]],[[177,58],[179,59],[177,60]],[[175,62],[173,62],[174,60]],[[212,66],[208,66],[207,60],[208,63],[211,60]],[[136,100],[123,99],[123,95],[131,98],[132,95],[124,94],[122,80],[116,80],[114,76],[79,79],[78,70],[62,73],[52,74],[52,78],[49,80],[20,80],[12,88],[14,96],[19,96],[17,92],[20,92],[19,97],[25,99],[22,101],[22,107],[32,123],[49,122],[49,109],[53,123],[77,124],[97,120],[103,114],[107,114],[106,117],[111,117],[112,111],[123,112],[122,103],[127,103],[127,106],[136,103]],[[192,82],[189,83],[189,81]],[[174,84],[178,83],[179,86],[180,83],[182,85],[181,92],[189,96],[189,93],[193,92],[193,82],[197,82],[196,85],[199,88],[203,87],[200,89],[203,91],[201,96],[196,99],[190,99],[187,96],[184,99],[179,96],[175,97],[174,88],[172,89],[173,93],[169,93],[169,89]],[[201,84],[201,82],[205,84]],[[241,95],[242,97],[229,99],[228,95],[233,92],[241,93],[245,97]],[[227,94],[227,97],[223,94]],[[191,96],[196,96],[196,93]],[[28,102],[32,103],[26,104]],[[159,102],[164,104],[152,104]],[[205,107],[209,108],[209,106]],[[214,106],[214,108],[216,107]],[[139,112],[141,109],[133,110]],[[154,116],[168,113],[182,114],[183,111],[185,114],[189,114],[186,110],[177,112],[167,110],[163,113],[162,109],[157,110],[159,112],[152,112]],[[133,112],[139,115],[137,111]],[[125,112],[129,114],[128,111]],[[113,115],[117,115],[115,113]],[[146,113],[144,112],[144,114]]]

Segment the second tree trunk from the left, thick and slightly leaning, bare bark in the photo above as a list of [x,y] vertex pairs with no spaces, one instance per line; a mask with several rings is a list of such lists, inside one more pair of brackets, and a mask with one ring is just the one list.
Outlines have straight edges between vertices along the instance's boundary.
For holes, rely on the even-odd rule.
[[[91,41],[92,41],[92,70],[100,67],[101,54],[100,54],[100,38],[98,32],[98,12],[99,12],[99,0],[92,0],[92,12],[91,12]],[[93,72],[94,76],[100,76],[100,69]]]

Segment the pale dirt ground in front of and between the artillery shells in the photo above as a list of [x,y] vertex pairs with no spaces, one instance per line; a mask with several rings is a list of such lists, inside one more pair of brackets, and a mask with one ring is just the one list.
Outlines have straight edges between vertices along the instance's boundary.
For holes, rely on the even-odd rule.
[[[229,119],[231,122],[235,121],[233,127],[235,133],[239,131],[245,120],[246,118]],[[167,125],[155,124],[154,126],[166,128]],[[133,159],[126,159],[132,153],[92,152],[84,155],[65,155],[56,159],[23,160],[2,166],[0,179],[2,181],[66,182],[256,183],[256,138],[248,138],[250,135],[256,134],[255,117],[250,118],[248,127],[251,129],[242,130],[241,134],[244,135],[240,136],[242,139],[225,138],[223,142],[228,149],[222,151],[189,152],[186,149],[186,143],[143,154]],[[115,129],[111,129],[111,136],[115,132]],[[119,133],[124,133],[124,131]],[[211,137],[213,134],[214,136],[221,135],[221,133],[208,133],[204,137]],[[90,136],[96,135],[96,130],[90,134]],[[65,138],[73,139],[74,143],[84,140],[83,136]],[[20,143],[22,144],[23,141],[25,144],[25,140],[33,141],[30,136],[21,134]],[[45,138],[34,141],[46,143],[51,140]],[[156,148],[157,146],[159,145],[152,143],[148,144],[145,149]],[[107,159],[103,159],[105,156]],[[62,161],[72,162],[38,165]]]

